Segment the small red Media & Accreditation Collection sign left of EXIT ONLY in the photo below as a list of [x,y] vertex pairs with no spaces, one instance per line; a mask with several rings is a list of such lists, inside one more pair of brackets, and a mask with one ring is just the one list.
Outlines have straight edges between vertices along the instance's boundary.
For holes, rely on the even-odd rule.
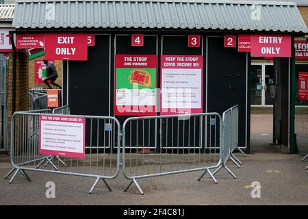
[[18,34],[16,35],[17,49],[44,48],[44,34]]

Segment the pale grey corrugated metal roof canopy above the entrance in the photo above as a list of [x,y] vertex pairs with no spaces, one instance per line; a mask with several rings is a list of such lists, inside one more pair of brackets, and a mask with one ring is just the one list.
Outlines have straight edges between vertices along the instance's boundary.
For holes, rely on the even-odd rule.
[[[52,19],[47,3],[54,5]],[[261,8],[259,19],[251,18],[252,6]],[[277,1],[18,0],[13,27],[308,32],[296,3]]]

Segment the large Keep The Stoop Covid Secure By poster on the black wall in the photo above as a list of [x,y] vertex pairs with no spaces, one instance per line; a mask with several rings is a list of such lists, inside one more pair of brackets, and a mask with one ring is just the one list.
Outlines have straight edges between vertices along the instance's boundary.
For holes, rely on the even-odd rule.
[[203,112],[203,56],[161,56],[160,114]]

